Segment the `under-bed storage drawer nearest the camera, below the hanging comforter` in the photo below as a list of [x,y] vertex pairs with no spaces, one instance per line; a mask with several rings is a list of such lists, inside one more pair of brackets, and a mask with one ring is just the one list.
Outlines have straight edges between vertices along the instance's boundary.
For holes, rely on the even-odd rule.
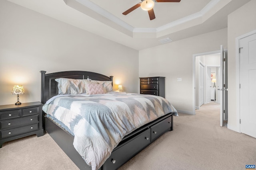
[[122,147],[114,150],[104,164],[104,170],[115,170],[150,144],[150,129],[141,133]]

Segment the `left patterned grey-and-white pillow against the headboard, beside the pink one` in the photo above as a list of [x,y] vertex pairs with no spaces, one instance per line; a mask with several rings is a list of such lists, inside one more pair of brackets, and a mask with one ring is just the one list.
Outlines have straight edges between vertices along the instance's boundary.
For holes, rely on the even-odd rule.
[[71,79],[71,78],[56,78],[58,82],[59,94],[82,94],[86,93],[86,87],[84,82],[88,80],[83,79]]

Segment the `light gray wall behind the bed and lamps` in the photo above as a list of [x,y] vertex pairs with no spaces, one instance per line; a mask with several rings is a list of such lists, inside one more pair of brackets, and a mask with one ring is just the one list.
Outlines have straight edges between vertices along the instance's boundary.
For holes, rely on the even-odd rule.
[[114,90],[138,92],[138,51],[11,2],[0,1],[0,105],[40,101],[40,70],[114,76]]

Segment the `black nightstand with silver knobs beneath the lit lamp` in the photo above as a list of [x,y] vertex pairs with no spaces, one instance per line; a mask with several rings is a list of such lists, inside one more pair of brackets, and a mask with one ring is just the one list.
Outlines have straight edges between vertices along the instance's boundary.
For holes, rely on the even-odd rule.
[[3,143],[36,134],[44,135],[40,102],[0,106],[0,148]]

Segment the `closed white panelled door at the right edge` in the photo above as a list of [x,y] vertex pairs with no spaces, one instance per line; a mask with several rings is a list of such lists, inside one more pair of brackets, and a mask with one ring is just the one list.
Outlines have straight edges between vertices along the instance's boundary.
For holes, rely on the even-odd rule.
[[256,34],[239,41],[240,132],[256,137]]

